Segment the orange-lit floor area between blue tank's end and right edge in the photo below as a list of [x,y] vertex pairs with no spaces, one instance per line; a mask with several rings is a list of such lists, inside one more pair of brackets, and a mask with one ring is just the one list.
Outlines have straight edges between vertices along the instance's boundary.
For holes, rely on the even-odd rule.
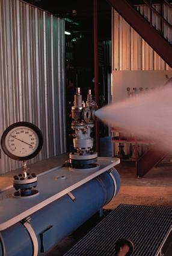
[[105,206],[114,209],[120,203],[172,207],[172,165],[159,164],[143,178],[135,178],[135,163],[121,162],[121,188],[118,195]]

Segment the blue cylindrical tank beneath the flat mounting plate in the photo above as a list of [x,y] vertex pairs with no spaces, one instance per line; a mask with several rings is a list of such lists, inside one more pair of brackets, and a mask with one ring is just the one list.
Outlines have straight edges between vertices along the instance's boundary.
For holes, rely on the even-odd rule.
[[0,255],[42,255],[110,202],[119,188],[120,176],[115,168],[102,173],[73,190],[75,200],[66,194],[31,214],[29,225],[37,242],[24,225],[26,219],[1,231]]

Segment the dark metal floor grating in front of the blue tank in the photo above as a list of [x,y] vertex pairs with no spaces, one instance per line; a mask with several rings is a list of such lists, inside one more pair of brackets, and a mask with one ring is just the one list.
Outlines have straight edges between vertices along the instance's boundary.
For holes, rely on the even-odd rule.
[[155,256],[170,231],[171,213],[171,208],[121,204],[65,256],[114,256],[118,238],[132,240],[132,256]]

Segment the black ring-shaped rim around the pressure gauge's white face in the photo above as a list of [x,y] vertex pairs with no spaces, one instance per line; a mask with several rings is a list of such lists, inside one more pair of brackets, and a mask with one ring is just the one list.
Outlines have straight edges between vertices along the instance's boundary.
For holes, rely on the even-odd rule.
[[[11,152],[9,152],[9,150],[7,149],[7,147],[5,145],[5,138],[8,135],[8,133],[12,129],[14,129],[16,127],[20,127],[20,126],[25,126],[25,127],[28,127],[29,129],[34,130],[34,132],[38,136],[38,146],[37,146],[37,149],[35,149],[35,151],[31,155],[28,155],[28,156],[16,156],[16,155],[13,155]],[[35,126],[35,124],[29,123],[29,122],[20,121],[20,122],[11,124],[2,133],[2,137],[1,137],[1,147],[2,147],[2,150],[4,151],[4,153],[7,156],[9,156],[10,158],[12,158],[14,160],[25,161],[25,160],[29,160],[31,158],[34,158],[36,155],[38,155],[38,153],[40,152],[42,146],[43,146],[43,135],[41,133],[41,130],[37,126]]]

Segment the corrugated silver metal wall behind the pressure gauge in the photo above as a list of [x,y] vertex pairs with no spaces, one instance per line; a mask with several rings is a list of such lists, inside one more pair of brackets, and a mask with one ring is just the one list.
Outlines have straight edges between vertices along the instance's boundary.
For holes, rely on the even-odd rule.
[[[44,136],[30,162],[66,152],[64,20],[18,0],[0,0],[0,136],[17,121]],[[19,162],[1,149],[0,173]]]

